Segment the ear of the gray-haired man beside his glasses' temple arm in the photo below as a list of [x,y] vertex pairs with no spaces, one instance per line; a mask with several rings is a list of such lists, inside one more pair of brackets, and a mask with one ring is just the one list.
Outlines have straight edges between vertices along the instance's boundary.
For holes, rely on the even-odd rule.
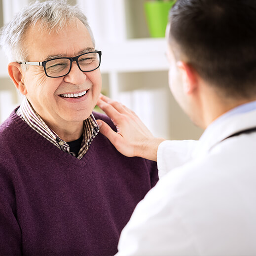
[[11,62],[8,64],[8,73],[9,76],[11,77],[14,85],[16,88],[24,95],[27,94],[27,89],[24,84],[24,77],[23,73],[24,71],[22,70],[21,66],[19,63],[16,62]]

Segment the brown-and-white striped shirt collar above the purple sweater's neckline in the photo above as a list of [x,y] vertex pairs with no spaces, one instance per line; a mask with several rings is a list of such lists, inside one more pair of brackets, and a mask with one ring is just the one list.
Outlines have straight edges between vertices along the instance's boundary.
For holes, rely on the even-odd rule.
[[70,146],[68,143],[62,140],[53,130],[47,126],[43,119],[33,109],[27,98],[24,98],[21,106],[16,111],[16,114],[46,140],[57,146],[59,149],[77,157],[78,159],[81,159],[84,156],[84,154],[88,151],[91,142],[99,133],[99,126],[93,114],[91,114],[83,122],[83,139],[78,155],[76,156],[75,153],[70,151]]

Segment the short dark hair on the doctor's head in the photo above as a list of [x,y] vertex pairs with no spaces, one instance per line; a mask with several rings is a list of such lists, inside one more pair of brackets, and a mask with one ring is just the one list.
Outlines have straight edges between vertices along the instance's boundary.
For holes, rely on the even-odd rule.
[[177,59],[231,98],[256,95],[256,0],[177,0],[169,43]]

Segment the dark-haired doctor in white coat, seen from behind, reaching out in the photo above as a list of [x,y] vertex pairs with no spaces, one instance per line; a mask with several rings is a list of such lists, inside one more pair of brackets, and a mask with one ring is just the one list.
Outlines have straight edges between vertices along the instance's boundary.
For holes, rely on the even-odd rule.
[[100,131],[127,156],[158,163],[118,255],[256,255],[256,1],[178,0],[166,30],[169,83],[199,141],[154,138],[123,105],[98,105]]

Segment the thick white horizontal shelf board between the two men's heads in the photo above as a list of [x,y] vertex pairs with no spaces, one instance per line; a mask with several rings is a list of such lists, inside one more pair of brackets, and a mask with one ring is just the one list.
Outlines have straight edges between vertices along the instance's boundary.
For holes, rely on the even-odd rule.
[[103,52],[103,73],[168,70],[165,39],[130,39],[121,43],[99,43],[96,46]]

